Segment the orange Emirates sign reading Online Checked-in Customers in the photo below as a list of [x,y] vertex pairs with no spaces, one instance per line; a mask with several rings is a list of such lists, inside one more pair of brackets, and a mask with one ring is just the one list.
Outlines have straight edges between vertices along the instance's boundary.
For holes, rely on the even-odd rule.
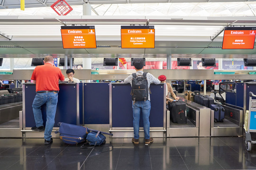
[[154,26],[121,26],[122,48],[155,48]]

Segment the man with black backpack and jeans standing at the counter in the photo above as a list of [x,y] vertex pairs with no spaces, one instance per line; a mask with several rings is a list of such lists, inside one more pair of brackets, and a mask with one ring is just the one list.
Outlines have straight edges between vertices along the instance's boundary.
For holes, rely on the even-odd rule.
[[134,62],[136,73],[128,76],[124,83],[130,83],[132,86],[132,110],[133,110],[133,130],[134,137],[132,142],[139,143],[139,118],[142,113],[143,127],[145,134],[145,144],[150,144],[154,140],[149,135],[149,114],[151,109],[149,86],[150,83],[160,84],[160,80],[150,73],[143,72],[143,62],[137,60]]

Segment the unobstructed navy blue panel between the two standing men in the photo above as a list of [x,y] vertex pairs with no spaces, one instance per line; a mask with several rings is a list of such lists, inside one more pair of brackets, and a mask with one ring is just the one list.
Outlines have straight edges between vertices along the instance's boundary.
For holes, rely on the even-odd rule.
[[110,84],[84,84],[84,124],[110,124]]

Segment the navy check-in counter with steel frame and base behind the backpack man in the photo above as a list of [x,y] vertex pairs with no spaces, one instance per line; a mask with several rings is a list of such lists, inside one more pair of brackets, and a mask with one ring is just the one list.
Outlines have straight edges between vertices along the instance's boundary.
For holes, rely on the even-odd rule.
[[[150,136],[164,137],[166,131],[165,84],[150,85],[151,110],[149,116]],[[110,84],[110,132],[113,137],[133,137],[133,112],[131,85]],[[140,118],[139,136],[143,137],[143,123]]]

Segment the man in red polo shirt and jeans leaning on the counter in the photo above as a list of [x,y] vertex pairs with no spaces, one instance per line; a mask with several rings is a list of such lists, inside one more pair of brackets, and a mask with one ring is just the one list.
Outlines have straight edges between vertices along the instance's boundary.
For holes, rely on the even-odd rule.
[[[55,113],[58,103],[59,80],[64,81],[61,69],[55,67],[52,56],[46,56],[44,65],[37,66],[31,76],[36,84],[36,92],[34,102],[32,104],[36,127],[32,130],[45,130],[45,144],[52,144],[53,138],[51,136],[54,123]],[[46,127],[43,125],[41,106],[46,103]]]

